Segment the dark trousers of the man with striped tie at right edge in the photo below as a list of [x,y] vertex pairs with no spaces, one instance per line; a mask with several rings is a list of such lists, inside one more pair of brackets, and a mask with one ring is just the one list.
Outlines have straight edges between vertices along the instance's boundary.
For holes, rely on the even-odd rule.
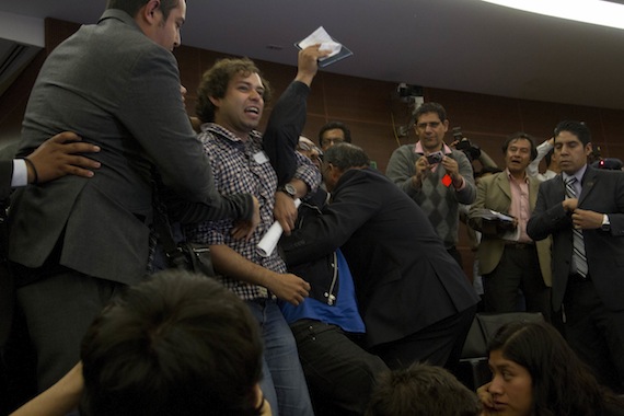
[[624,393],[624,312],[606,310],[591,280],[568,281],[565,335],[601,384]]

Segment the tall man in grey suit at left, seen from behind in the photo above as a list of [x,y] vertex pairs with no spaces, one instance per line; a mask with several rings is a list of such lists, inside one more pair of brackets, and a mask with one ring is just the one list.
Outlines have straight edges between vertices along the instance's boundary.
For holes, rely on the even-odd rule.
[[10,212],[9,258],[39,389],[78,361],[102,307],[145,276],[154,170],[178,196],[210,206],[211,219],[241,218],[244,233],[257,223],[251,195],[215,189],[182,103],[171,51],[185,0],[108,0],[106,9],[49,55],[23,123],[22,155],[62,130],[102,148],[97,175],[20,189]]

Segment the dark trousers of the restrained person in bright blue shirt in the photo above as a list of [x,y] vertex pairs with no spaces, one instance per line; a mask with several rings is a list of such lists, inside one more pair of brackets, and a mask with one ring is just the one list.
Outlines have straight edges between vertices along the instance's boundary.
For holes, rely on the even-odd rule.
[[383,360],[336,325],[299,320],[290,325],[316,415],[361,415]]

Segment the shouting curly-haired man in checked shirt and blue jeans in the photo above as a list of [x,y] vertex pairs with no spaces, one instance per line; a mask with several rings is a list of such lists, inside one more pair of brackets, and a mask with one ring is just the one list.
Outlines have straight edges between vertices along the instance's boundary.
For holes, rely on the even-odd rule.
[[[279,105],[304,107],[310,83],[316,73],[319,47],[300,53],[299,72],[287,92],[291,102]],[[223,59],[205,72],[198,93],[197,114],[206,123],[199,138],[210,159],[217,189],[222,195],[252,194],[259,205],[259,226],[246,238],[233,220],[187,224],[189,241],[210,244],[219,280],[246,301],[261,324],[265,343],[261,388],[271,408],[280,415],[312,415],[308,388],[290,328],[276,299],[299,304],[310,285],[289,274],[281,257],[256,253],[256,245],[274,222],[286,232],[297,217],[293,199],[313,192],[321,182],[319,170],[304,157],[298,159],[294,178],[278,188],[278,178],[255,130],[269,97],[268,83],[249,59]],[[284,117],[286,118],[286,117]],[[280,126],[288,119],[280,120]]]

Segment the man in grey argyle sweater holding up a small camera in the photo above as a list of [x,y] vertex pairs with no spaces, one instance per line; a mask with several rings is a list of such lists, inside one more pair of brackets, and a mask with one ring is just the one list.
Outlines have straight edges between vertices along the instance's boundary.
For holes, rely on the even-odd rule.
[[423,208],[449,254],[462,265],[455,247],[459,205],[476,197],[472,165],[464,152],[444,143],[449,129],[444,107],[425,103],[414,117],[418,141],[396,149],[385,174]]

